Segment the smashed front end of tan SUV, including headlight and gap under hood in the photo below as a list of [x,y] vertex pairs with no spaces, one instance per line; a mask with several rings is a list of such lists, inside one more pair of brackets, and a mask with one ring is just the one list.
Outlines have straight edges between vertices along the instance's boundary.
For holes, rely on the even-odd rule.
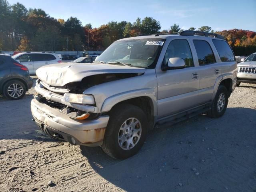
[[80,82],[53,86],[38,79],[31,111],[38,127],[46,134],[71,144],[102,144],[109,116],[100,112],[93,95],[84,91],[98,84],[138,76],[138,73],[97,74]]

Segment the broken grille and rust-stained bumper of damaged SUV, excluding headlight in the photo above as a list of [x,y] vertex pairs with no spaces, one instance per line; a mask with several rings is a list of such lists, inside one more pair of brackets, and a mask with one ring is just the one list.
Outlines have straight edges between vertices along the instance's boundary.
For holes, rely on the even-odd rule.
[[102,144],[108,115],[93,105],[66,102],[64,87],[46,85],[37,80],[31,111],[38,127],[46,134],[71,144],[99,146]]

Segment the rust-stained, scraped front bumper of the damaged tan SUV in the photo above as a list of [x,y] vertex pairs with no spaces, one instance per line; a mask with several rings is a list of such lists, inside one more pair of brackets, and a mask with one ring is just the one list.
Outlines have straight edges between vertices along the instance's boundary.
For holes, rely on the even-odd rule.
[[76,120],[57,109],[31,101],[31,112],[36,124],[46,134],[64,141],[74,138],[76,144],[99,146],[102,144],[109,116],[100,116],[95,120]]

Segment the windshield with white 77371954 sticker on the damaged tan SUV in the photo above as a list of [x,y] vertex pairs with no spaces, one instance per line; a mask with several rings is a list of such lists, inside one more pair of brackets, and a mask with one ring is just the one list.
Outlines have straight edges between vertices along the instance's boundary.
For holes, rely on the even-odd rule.
[[146,68],[157,61],[164,40],[133,39],[116,41],[95,61],[118,62],[130,66]]

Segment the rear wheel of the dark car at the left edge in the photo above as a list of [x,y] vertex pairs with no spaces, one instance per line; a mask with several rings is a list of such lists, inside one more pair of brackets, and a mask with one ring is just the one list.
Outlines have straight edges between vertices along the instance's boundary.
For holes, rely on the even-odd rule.
[[10,80],[4,84],[3,93],[10,100],[18,100],[26,94],[26,86],[19,80]]

